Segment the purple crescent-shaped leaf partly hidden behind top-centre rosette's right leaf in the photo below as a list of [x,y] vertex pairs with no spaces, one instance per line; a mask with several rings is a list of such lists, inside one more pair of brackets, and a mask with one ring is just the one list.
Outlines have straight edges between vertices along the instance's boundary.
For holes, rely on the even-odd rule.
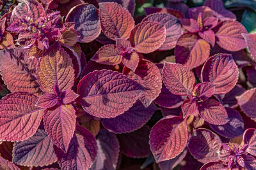
[[158,50],[171,50],[175,47],[177,39],[182,34],[179,19],[168,13],[153,13],[145,17],[142,22],[147,20],[159,22],[166,29],[166,38],[162,46]]

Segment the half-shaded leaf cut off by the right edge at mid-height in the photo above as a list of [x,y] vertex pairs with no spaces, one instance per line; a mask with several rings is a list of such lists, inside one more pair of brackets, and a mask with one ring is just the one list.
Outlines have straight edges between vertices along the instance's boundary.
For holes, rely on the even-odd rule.
[[247,90],[238,96],[237,101],[243,112],[256,122],[256,88]]

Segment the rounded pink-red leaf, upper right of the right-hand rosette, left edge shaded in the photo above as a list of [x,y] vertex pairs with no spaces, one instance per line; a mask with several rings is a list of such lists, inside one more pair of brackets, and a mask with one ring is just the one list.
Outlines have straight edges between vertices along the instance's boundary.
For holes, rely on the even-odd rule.
[[238,80],[238,67],[227,53],[218,53],[210,57],[202,68],[201,80],[215,85],[214,94],[225,94],[233,89]]

